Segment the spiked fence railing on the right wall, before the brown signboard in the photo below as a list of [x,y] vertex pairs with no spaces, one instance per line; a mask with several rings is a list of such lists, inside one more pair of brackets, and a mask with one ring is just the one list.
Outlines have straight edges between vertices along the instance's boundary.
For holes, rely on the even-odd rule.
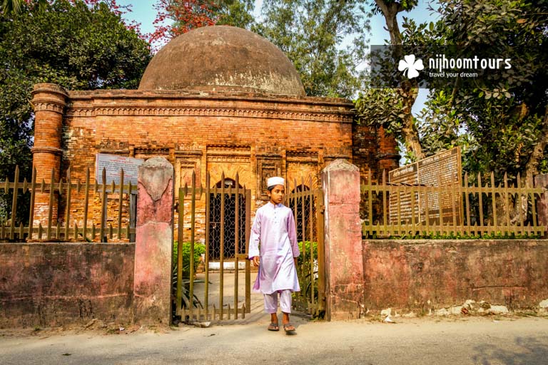
[[542,237],[537,201],[546,193],[519,175],[509,185],[507,175],[498,186],[494,174],[477,185],[464,183],[437,186],[390,185],[386,174],[373,183],[371,172],[362,184],[362,235],[365,237]]

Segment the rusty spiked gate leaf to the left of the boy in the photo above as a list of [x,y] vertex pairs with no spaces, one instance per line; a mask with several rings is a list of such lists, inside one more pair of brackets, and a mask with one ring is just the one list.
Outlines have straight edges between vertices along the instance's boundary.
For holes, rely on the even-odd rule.
[[[225,179],[223,173],[220,182],[210,187],[210,174],[207,173],[205,187],[196,187],[193,173],[192,186],[179,189],[173,282],[175,315],[183,321],[238,319],[250,312],[250,261],[247,257],[251,191],[240,187],[238,180],[238,175],[235,180]],[[197,223],[205,227],[201,247],[203,272],[199,275],[195,267],[198,262],[196,251],[202,244],[196,242]],[[186,249],[189,249],[189,255],[188,252],[185,255]],[[217,262],[218,269],[213,267]],[[243,290],[238,282],[241,270],[245,272]],[[232,285],[233,292],[225,292],[225,287]]]

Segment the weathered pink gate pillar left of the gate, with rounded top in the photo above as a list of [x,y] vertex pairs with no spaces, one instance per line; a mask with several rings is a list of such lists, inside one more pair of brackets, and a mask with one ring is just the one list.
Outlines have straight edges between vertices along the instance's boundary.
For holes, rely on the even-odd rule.
[[165,158],[150,158],[139,166],[138,173],[135,322],[171,322],[172,252],[173,166]]

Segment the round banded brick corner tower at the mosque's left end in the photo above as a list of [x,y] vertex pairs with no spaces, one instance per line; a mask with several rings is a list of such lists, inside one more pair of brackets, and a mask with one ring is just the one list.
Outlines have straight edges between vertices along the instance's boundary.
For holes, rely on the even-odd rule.
[[[36,168],[36,182],[51,181],[54,170],[54,182],[59,182],[61,173],[61,136],[63,114],[66,107],[66,91],[54,83],[37,83],[32,91],[34,106],[34,147],[32,165]],[[52,225],[57,224],[57,199],[52,207]],[[36,223],[45,225],[48,218],[49,193],[37,193],[34,204]]]

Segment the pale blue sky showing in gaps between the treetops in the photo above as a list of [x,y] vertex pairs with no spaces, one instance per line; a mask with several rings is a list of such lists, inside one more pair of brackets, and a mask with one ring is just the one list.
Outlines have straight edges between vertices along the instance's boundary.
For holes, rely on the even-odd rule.
[[[143,34],[152,33],[154,31],[153,21],[156,19],[156,14],[158,11],[154,9],[154,4],[158,0],[118,0],[117,3],[120,5],[131,5],[131,12],[125,14],[124,18],[127,21],[136,21],[141,24],[141,32]],[[403,16],[415,19],[417,23],[422,23],[424,21],[432,21],[432,16],[430,11],[427,11],[427,6],[430,1],[428,0],[419,0],[418,5],[412,11],[408,13],[400,13],[398,15],[398,22],[401,26]],[[255,17],[260,16],[260,6],[263,4],[263,0],[255,0]],[[385,40],[389,39],[390,36],[388,31],[385,29],[385,20],[381,15],[374,16],[371,19],[371,34],[370,34],[370,45],[375,44],[385,44]],[[415,106],[413,106],[412,113],[417,115],[417,113],[424,107],[424,103],[427,97],[427,90],[421,88],[419,89],[419,95],[417,96],[417,101]]]

